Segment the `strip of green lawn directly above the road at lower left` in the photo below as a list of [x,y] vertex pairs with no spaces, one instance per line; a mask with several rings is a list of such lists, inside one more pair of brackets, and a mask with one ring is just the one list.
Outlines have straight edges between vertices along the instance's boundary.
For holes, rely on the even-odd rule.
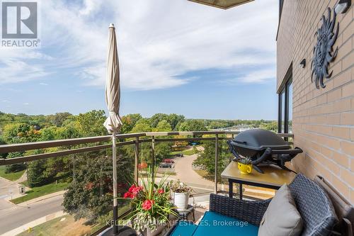
[[62,191],[64,190],[69,184],[68,183],[52,183],[52,184],[46,184],[43,186],[39,187],[34,187],[27,191],[26,195],[21,196],[19,198],[15,198],[11,200],[12,203],[18,204],[18,203],[23,203],[24,201],[31,200],[33,198],[38,198],[40,196],[47,195],[49,193],[55,193],[57,191]]

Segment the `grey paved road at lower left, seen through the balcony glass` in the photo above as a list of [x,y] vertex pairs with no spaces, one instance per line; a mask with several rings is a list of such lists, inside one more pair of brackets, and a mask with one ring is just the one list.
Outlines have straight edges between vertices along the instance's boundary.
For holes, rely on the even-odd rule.
[[63,196],[54,196],[27,206],[14,206],[0,210],[0,235],[25,223],[62,210]]

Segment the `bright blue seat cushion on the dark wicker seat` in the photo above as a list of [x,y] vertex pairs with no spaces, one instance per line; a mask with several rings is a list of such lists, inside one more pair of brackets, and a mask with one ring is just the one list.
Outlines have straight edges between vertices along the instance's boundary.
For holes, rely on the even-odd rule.
[[258,235],[258,226],[213,211],[207,211],[200,220],[193,236],[208,235],[253,236]]

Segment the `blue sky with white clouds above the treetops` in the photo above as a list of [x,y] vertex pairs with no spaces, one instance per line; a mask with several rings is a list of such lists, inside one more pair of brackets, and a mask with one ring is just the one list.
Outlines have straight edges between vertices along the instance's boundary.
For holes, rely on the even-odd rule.
[[108,25],[115,23],[122,115],[277,117],[277,0],[227,11],[186,0],[38,2],[42,46],[0,47],[0,111],[106,109]]

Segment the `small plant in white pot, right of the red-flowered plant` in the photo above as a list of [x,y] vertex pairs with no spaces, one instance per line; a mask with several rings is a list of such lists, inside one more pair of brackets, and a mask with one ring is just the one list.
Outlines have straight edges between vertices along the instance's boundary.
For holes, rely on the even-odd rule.
[[170,182],[170,189],[173,194],[173,204],[176,206],[177,210],[187,209],[192,188],[178,179],[176,182]]

